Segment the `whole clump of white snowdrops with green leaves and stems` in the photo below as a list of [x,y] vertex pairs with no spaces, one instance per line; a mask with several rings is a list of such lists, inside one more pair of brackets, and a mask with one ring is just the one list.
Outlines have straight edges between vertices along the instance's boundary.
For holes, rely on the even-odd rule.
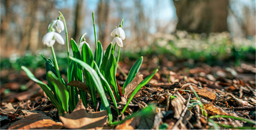
[[[128,107],[129,102],[135,94],[143,87],[158,71],[157,69],[153,71],[148,77],[146,77],[140,84],[135,88],[129,97],[127,104],[124,106],[122,111],[119,111],[117,102],[121,101],[122,96],[119,94],[118,83],[116,81],[116,71],[118,69],[119,56],[121,52],[121,47],[123,47],[123,40],[125,40],[125,32],[122,29],[124,19],[121,21],[119,27],[113,29],[110,34],[113,38],[112,43],[109,44],[106,51],[103,51],[103,47],[100,41],[97,40],[97,33],[95,29],[95,19],[94,12],[92,13],[92,20],[94,22],[94,36],[95,36],[95,50],[94,53],[91,50],[88,43],[85,40],[85,34],[80,37],[79,43],[76,43],[73,38],[71,38],[71,47],[73,51],[73,57],[70,56],[70,50],[68,47],[68,32],[67,25],[65,23],[64,16],[59,12],[60,16],[57,20],[53,20],[52,23],[48,26],[48,32],[43,37],[43,44],[50,47],[52,50],[53,59],[45,58],[41,53],[40,55],[46,62],[46,71],[47,71],[47,81],[48,84],[43,83],[42,81],[35,78],[31,71],[25,66],[22,66],[22,69],[26,72],[31,80],[38,83],[41,88],[44,90],[46,95],[52,101],[53,105],[58,110],[58,114],[65,116],[65,113],[71,112],[76,107],[77,102],[82,99],[85,107],[88,107],[88,94],[91,97],[92,108],[97,108],[97,97],[96,91],[100,94],[101,98],[101,107],[107,110],[109,114],[109,122],[112,122],[112,112],[110,111],[109,99],[106,95],[112,99],[115,104],[116,111],[118,114],[125,112]],[[63,20],[63,22],[61,21]],[[58,32],[55,32],[55,28]],[[68,83],[65,83],[64,79],[61,77],[61,72],[59,71],[58,61],[56,59],[55,50],[53,45],[57,42],[64,45],[65,41],[62,36],[59,34],[65,30],[66,39],[67,39],[67,77],[68,83],[70,81],[80,81],[86,84],[89,89],[89,93],[86,93],[84,90],[79,89],[74,86],[68,86]],[[118,47],[118,51],[116,51]],[[122,93],[125,93],[125,87],[135,78],[140,66],[143,62],[143,57],[139,58],[135,64],[132,66],[129,71],[127,80],[122,87]],[[112,88],[111,88],[112,86]]]

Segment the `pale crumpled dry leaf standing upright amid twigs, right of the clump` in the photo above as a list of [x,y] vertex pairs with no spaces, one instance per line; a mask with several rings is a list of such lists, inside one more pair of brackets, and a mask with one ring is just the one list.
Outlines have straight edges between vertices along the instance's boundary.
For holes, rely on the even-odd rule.
[[180,95],[178,91],[174,93],[174,96],[177,96],[177,98],[174,98],[171,100],[171,105],[174,107],[174,117],[176,119],[180,118],[180,114],[182,113],[183,109],[185,109],[185,99]]

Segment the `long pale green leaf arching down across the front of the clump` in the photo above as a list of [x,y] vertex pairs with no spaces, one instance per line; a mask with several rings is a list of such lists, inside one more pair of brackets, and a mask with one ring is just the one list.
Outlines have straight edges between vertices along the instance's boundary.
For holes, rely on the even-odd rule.
[[103,86],[102,86],[101,81],[100,81],[100,77],[98,76],[97,72],[90,65],[86,64],[85,62],[83,62],[79,59],[71,58],[71,57],[70,57],[70,59],[73,60],[74,62],[77,62],[79,65],[83,66],[83,68],[85,68],[86,71],[89,72],[89,75],[92,79],[92,83],[94,83],[98,93],[100,93],[101,101],[103,102],[103,104],[104,104],[104,106],[107,110],[107,113],[109,114],[109,122],[112,122],[113,117],[112,117],[112,113],[110,111],[109,102],[108,102],[108,99],[105,95]]

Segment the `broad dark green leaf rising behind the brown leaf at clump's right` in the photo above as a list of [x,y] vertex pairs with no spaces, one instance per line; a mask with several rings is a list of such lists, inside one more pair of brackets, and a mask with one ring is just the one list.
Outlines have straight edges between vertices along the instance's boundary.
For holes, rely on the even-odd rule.
[[131,67],[131,70],[129,71],[129,74],[128,74],[128,77],[127,77],[127,80],[125,80],[125,83],[124,83],[124,86],[123,86],[123,93],[125,93],[125,87],[131,83],[131,81],[135,78],[137,72],[138,72],[138,69],[140,69],[140,66],[142,64],[142,61],[143,61],[143,57],[141,56],[136,62],[134,65],[132,65]]

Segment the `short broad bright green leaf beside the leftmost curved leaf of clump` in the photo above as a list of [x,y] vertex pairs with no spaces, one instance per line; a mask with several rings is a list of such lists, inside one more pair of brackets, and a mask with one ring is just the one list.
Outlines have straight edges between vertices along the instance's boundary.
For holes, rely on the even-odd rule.
[[62,84],[62,82],[59,81],[58,77],[56,77],[56,75],[53,74],[52,71],[47,72],[47,77],[55,87],[55,94],[58,96],[59,101],[61,101],[62,108],[64,109],[64,111],[68,112],[69,95],[67,87],[65,86],[65,84]]

